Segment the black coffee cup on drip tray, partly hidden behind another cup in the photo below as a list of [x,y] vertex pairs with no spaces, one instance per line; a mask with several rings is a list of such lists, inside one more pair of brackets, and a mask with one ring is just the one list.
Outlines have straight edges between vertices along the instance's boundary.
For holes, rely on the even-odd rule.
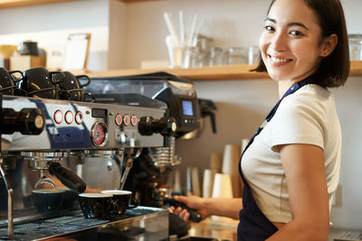
[[135,208],[136,206],[129,206],[129,201],[132,197],[132,192],[129,190],[101,190],[100,193],[111,194],[112,208],[111,214],[122,214],[128,208]]

